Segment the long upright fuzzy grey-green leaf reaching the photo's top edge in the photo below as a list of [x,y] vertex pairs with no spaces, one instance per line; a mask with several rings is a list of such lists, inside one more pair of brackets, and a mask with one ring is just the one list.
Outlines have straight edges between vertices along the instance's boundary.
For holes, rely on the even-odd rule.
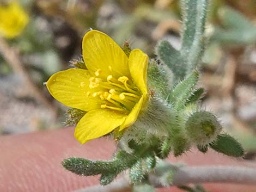
[[204,30],[209,0],[183,0],[181,55],[186,58],[190,73],[199,63],[204,51]]

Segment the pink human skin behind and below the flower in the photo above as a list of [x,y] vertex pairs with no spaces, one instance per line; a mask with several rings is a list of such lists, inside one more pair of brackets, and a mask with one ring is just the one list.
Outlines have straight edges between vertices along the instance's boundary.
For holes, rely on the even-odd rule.
[[[80,145],[74,138],[74,128],[41,131],[0,137],[0,191],[68,192],[97,184],[96,177],[81,177],[62,168],[62,159],[86,157],[109,159],[115,145],[106,138],[95,139]],[[192,150],[180,158],[170,157],[172,162],[187,165],[239,165],[256,168],[256,164],[223,156],[214,151],[207,154]],[[205,184],[212,192],[255,192],[255,185]],[[157,189],[157,192],[181,191],[176,187]]]

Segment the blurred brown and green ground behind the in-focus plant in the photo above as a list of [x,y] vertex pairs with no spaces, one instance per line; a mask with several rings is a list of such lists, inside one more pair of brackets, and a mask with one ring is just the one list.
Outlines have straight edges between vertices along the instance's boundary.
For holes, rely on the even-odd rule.
[[[0,0],[0,134],[65,127],[43,83],[81,59],[89,28],[154,58],[159,40],[180,47],[179,1]],[[212,0],[206,36],[203,108],[256,160],[256,0]]]

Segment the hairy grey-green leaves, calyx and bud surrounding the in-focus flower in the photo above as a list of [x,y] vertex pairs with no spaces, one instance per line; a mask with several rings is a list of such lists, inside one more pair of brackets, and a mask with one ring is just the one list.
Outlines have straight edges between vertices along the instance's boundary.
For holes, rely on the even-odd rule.
[[[64,159],[66,169],[83,176],[101,175],[102,185],[111,183],[120,172],[129,170],[133,191],[154,191],[148,184],[149,173],[159,177],[162,185],[172,184],[178,166],[160,160],[170,153],[181,156],[196,146],[203,153],[211,147],[228,156],[242,156],[241,145],[229,135],[221,134],[222,126],[215,115],[200,110],[198,106],[204,89],[197,88],[199,73],[196,67],[204,52],[207,7],[208,0],[182,1],[182,47],[176,50],[168,41],[157,45],[156,53],[161,63],[149,61],[149,101],[131,127],[113,133],[119,140],[119,149],[113,159]],[[136,16],[135,20],[139,18]],[[229,18],[225,23],[226,26],[235,24]],[[129,56],[131,48],[127,42],[123,50]],[[73,65],[86,69],[82,60]],[[68,122],[77,123],[85,113],[70,109]],[[186,190],[203,191],[199,188]]]

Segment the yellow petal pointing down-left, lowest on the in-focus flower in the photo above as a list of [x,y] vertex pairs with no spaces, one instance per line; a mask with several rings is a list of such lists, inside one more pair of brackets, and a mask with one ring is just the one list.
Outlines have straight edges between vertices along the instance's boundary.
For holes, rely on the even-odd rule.
[[96,109],[88,112],[78,122],[75,138],[84,144],[112,132],[124,122],[126,115],[108,109]]

